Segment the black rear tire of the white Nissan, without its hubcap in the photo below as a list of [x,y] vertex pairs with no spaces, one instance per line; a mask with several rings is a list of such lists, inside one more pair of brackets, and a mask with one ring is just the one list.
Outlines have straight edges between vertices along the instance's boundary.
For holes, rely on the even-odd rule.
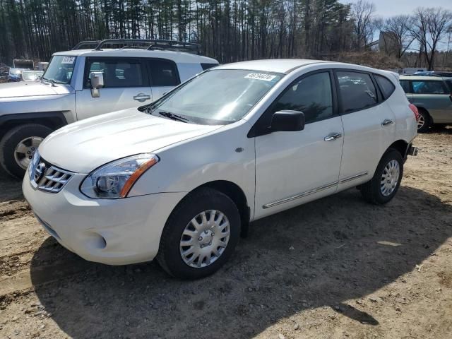
[[[383,176],[383,171],[391,160],[396,160],[399,165],[400,173],[398,177],[398,182],[394,191],[388,196],[384,196],[381,193],[380,185],[381,185],[381,177]],[[382,205],[384,203],[388,203],[391,199],[396,195],[398,188],[400,186],[400,182],[403,177],[403,157],[400,155],[398,150],[393,148],[389,148],[386,153],[381,157],[379,165],[376,167],[374,177],[367,183],[362,184],[360,191],[362,197],[365,201],[369,203],[374,203],[376,205]]]

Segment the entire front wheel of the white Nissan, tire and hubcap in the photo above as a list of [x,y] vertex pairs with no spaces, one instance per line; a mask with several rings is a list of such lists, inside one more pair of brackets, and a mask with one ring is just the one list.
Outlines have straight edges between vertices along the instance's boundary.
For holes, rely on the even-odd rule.
[[215,189],[198,189],[169,216],[157,261],[174,277],[203,278],[225,264],[239,235],[239,210],[229,196]]

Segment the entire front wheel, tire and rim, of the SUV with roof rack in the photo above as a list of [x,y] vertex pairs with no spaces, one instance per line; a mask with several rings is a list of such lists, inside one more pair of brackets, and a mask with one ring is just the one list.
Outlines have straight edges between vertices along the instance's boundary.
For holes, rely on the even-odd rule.
[[8,174],[23,178],[33,154],[52,129],[25,124],[9,130],[0,141],[0,164]]

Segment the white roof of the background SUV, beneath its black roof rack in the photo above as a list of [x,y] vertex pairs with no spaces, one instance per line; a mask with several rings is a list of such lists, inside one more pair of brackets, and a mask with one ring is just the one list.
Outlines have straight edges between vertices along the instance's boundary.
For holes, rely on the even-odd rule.
[[206,63],[206,64],[218,64],[218,61],[209,57],[203,57],[202,55],[176,52],[176,51],[160,51],[138,48],[124,48],[124,49],[102,49],[96,51],[94,49],[74,49],[72,51],[57,52],[53,55],[65,55],[69,57],[132,57],[132,58],[162,58],[170,59],[176,63]]

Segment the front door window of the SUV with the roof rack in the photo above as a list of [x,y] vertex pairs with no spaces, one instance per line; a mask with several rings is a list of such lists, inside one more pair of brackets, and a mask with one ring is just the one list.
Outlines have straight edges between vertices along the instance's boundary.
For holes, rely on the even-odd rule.
[[126,88],[148,86],[148,76],[138,59],[87,58],[85,65],[85,88],[89,88],[91,72],[104,74],[104,88]]

